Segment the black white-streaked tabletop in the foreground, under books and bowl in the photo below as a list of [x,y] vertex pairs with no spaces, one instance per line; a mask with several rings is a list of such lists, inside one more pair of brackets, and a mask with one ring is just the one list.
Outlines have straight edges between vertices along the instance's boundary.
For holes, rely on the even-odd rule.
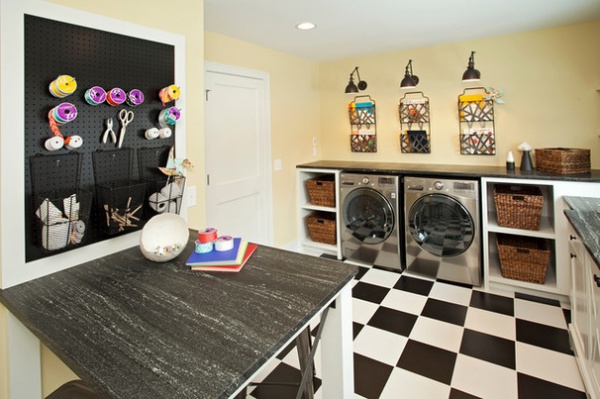
[[227,398],[357,268],[259,246],[239,273],[130,248],[5,290],[0,301],[108,398]]

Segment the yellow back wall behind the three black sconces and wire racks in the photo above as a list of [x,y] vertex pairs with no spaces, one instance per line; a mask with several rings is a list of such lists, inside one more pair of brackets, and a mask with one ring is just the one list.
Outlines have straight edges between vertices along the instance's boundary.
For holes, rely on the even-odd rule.
[[[485,28],[485,26],[483,26]],[[588,148],[600,169],[600,21],[469,42],[325,62],[320,65],[323,158],[338,160],[504,165],[517,146]],[[504,88],[496,111],[496,156],[460,155],[457,97],[470,51],[482,81]],[[431,154],[403,154],[398,135],[400,81],[408,60],[419,76],[416,91],[431,102]],[[377,153],[352,153],[344,94],[349,73],[360,67],[365,92],[377,104]],[[535,160],[534,160],[535,161]]]

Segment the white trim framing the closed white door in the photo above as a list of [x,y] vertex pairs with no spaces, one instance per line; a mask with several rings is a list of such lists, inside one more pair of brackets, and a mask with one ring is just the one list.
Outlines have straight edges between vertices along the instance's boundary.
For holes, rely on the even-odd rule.
[[[226,75],[241,76],[247,78],[258,79],[264,82],[265,85],[265,96],[264,96],[264,110],[265,110],[265,140],[264,140],[264,154],[265,157],[262,160],[263,167],[265,170],[266,184],[266,217],[267,217],[267,243],[273,245],[273,176],[271,172],[271,89],[270,89],[270,75],[267,72],[257,71],[248,68],[237,67],[233,65],[220,64],[216,62],[204,62],[204,75],[208,72],[221,73]],[[208,93],[210,96],[210,93]],[[206,132],[205,132],[206,134]],[[205,136],[206,137],[206,136]],[[206,138],[204,139],[205,151],[206,151]],[[206,165],[205,168],[206,170]],[[206,184],[206,179],[205,182]],[[207,209],[205,205],[204,212],[206,214]]]

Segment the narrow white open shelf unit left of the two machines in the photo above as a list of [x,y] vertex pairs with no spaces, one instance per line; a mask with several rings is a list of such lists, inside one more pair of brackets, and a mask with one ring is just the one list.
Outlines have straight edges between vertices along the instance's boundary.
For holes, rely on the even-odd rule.
[[[310,197],[308,195],[308,190],[306,189],[306,180],[313,179],[315,177],[327,176],[330,175],[333,177],[335,182],[335,206],[333,207],[325,207],[313,205],[310,202]],[[299,215],[298,215],[298,237],[300,241],[300,246],[302,247],[303,252],[320,254],[320,253],[329,253],[331,255],[336,256],[338,259],[342,259],[342,251],[340,245],[340,214],[339,210],[339,199],[338,193],[340,189],[340,171],[337,169],[308,169],[308,168],[299,168],[297,170],[297,178],[296,181],[298,183],[297,193],[298,193],[298,207],[299,207]],[[315,242],[310,239],[310,234],[308,231],[308,227],[306,225],[306,217],[310,215],[312,212],[327,212],[331,213],[336,220],[336,244],[324,244],[320,242]]]

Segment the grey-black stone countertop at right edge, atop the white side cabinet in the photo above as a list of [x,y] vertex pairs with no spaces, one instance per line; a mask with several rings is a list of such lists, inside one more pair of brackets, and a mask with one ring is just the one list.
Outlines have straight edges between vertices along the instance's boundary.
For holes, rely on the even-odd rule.
[[600,213],[596,212],[600,198],[564,196],[563,199],[571,208],[565,210],[567,219],[600,268]]

